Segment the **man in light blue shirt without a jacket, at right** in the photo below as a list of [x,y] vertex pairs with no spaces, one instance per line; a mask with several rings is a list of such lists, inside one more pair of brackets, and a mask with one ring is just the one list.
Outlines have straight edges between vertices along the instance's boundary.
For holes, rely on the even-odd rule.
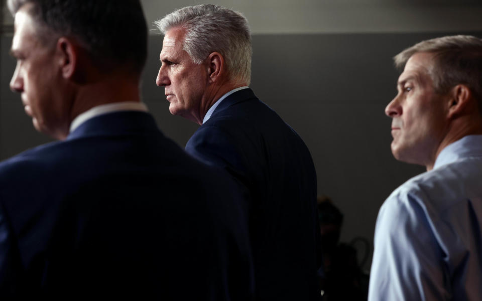
[[449,36],[395,56],[392,153],[426,167],[382,205],[370,300],[482,299],[482,40]]

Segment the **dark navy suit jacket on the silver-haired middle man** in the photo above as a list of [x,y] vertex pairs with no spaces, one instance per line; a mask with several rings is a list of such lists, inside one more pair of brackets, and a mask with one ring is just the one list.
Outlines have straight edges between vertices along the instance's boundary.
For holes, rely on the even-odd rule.
[[251,89],[226,97],[186,145],[248,196],[257,300],[318,300],[316,175],[298,134]]

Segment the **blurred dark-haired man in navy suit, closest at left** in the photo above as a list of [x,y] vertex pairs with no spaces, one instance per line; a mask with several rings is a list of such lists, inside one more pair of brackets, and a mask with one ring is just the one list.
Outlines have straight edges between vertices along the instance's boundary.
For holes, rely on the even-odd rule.
[[140,102],[138,0],[9,1],[11,88],[60,139],[0,164],[0,298],[249,300],[233,183]]

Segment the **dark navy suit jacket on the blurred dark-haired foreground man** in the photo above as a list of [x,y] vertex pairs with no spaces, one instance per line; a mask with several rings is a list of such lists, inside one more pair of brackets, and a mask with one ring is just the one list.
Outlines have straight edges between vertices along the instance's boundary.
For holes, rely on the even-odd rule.
[[232,181],[145,112],[114,112],[0,164],[0,298],[246,300]]

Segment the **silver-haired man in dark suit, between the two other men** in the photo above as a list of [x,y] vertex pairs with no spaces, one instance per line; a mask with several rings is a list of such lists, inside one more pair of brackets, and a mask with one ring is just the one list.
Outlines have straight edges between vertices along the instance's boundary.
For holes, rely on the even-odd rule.
[[200,5],[156,25],[164,34],[156,83],[172,114],[201,124],[187,152],[227,170],[247,197],[256,299],[319,299],[313,161],[298,134],[248,88],[247,20]]

